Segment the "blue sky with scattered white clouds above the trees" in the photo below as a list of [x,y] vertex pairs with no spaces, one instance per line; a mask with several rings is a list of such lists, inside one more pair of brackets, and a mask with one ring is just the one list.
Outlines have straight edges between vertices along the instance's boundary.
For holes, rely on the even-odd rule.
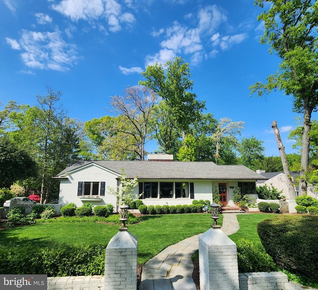
[[277,120],[286,153],[298,153],[292,97],[249,95],[280,62],[259,43],[260,12],[252,0],[0,0],[0,102],[37,105],[48,85],[68,116],[100,118],[147,65],[181,56],[206,112],[244,121],[241,136],[264,141],[266,156],[279,155]]

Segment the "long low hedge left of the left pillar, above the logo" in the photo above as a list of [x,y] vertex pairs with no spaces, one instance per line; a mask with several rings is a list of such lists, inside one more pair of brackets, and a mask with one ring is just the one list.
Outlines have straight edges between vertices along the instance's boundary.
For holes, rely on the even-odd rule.
[[0,245],[0,273],[49,277],[103,275],[104,263],[104,245]]

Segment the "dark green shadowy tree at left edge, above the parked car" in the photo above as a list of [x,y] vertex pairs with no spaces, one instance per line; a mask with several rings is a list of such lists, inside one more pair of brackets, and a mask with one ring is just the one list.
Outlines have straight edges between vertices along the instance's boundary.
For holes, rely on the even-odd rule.
[[9,188],[15,181],[33,177],[36,173],[36,163],[30,155],[8,136],[0,137],[0,187]]

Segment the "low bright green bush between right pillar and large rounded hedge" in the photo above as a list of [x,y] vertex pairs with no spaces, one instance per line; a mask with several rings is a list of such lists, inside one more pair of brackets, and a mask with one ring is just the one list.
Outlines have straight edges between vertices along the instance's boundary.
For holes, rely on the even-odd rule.
[[237,247],[239,272],[270,272],[277,270],[273,259],[261,245],[255,245],[250,240],[239,239]]

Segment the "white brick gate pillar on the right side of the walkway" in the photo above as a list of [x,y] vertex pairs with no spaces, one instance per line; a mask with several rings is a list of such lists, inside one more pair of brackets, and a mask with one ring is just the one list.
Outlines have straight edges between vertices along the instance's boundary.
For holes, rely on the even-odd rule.
[[200,290],[239,290],[237,245],[220,228],[199,236]]

